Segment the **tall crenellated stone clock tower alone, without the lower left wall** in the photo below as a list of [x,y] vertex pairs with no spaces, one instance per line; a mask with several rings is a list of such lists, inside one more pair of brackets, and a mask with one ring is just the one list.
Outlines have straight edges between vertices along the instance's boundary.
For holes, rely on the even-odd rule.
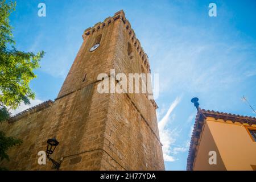
[[150,73],[147,55],[125,13],[118,11],[87,28],[82,38],[84,42],[55,101],[57,105],[70,103],[69,110],[63,110],[63,117],[68,118],[60,119],[67,133],[59,131],[63,137],[58,138],[70,138],[75,143],[59,154],[69,156],[61,168],[163,170],[155,101],[142,93],[97,92],[97,76],[110,74],[110,69],[127,75]]

